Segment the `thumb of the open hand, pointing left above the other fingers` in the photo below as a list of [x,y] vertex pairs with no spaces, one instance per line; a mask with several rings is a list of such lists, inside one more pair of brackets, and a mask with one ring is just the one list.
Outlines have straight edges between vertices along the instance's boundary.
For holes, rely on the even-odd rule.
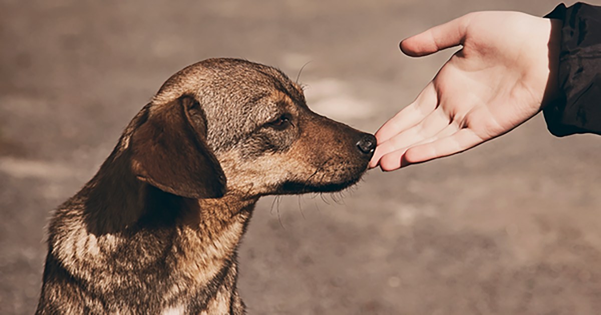
[[463,44],[468,20],[469,14],[406,38],[400,43],[401,51],[420,57]]

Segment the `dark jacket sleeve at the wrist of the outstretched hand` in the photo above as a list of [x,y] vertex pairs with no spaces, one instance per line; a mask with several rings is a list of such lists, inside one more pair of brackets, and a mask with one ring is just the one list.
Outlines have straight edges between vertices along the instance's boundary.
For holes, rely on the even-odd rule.
[[558,137],[601,134],[601,7],[560,4],[547,16],[563,21],[558,83],[561,97],[543,109]]

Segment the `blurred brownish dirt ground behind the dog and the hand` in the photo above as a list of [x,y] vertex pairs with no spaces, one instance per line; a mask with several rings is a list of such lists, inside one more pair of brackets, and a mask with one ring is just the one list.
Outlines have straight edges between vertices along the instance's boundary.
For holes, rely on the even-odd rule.
[[[231,56],[296,77],[306,64],[310,107],[375,132],[452,53],[407,58],[401,39],[469,11],[555,5],[0,0],[0,313],[34,312],[50,212],[180,68]],[[266,197],[240,293],[249,314],[601,314],[600,154],[601,137],[555,138],[539,115],[344,193]]]

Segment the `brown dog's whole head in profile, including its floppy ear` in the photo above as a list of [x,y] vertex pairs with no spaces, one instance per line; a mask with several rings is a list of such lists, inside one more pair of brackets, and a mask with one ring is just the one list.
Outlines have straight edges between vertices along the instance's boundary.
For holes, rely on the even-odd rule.
[[204,199],[341,190],[365,172],[376,139],[311,112],[275,68],[207,59],[169,78],[120,143],[138,179]]

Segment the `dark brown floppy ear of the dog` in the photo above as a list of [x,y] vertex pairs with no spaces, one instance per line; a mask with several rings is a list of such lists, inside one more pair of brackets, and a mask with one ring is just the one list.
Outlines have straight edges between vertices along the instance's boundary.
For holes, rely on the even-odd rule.
[[145,121],[142,119],[130,139],[133,173],[178,196],[224,196],[225,175],[206,143],[206,134],[206,118],[192,97],[147,106]]

